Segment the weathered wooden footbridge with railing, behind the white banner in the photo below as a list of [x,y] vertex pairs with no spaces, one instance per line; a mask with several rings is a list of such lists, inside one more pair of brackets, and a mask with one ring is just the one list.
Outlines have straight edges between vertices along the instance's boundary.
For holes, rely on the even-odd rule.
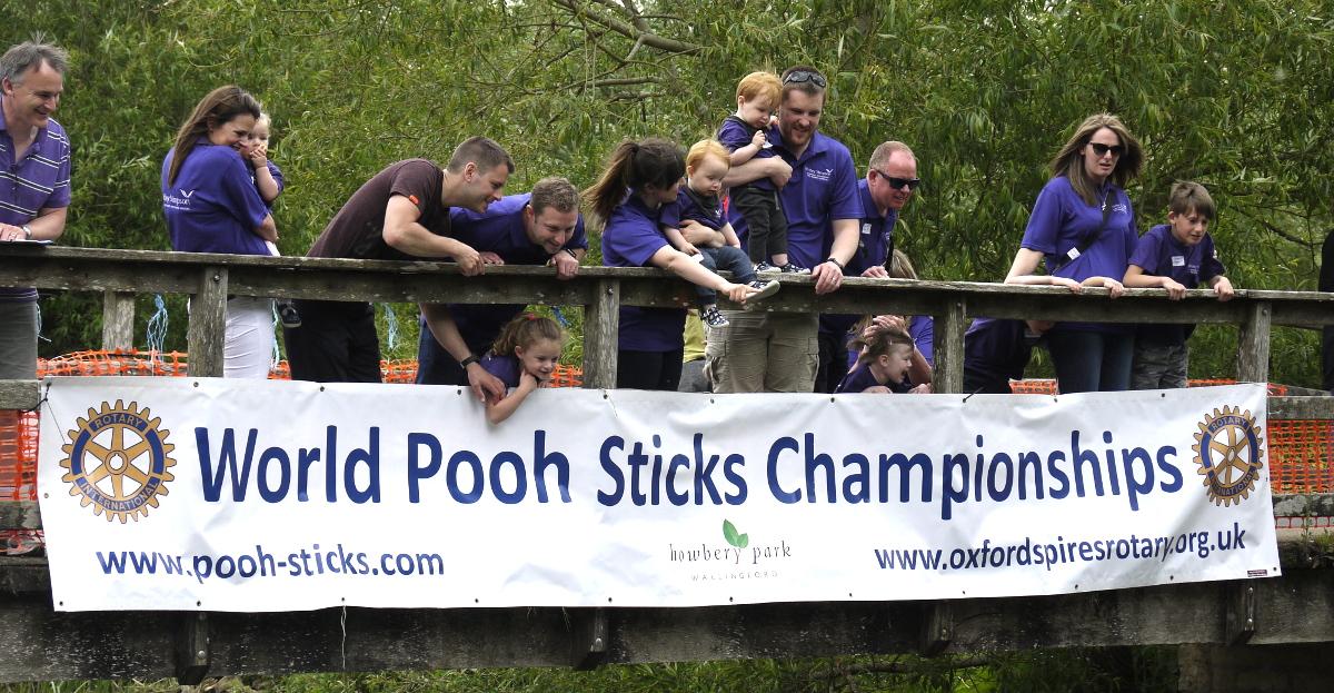
[[[770,311],[935,316],[935,389],[959,393],[971,316],[1238,326],[1237,379],[1266,382],[1274,326],[1334,324],[1334,294],[1161,291],[1074,295],[1055,287],[850,278],[816,296],[782,279]],[[374,302],[543,303],[584,311],[584,386],[614,387],[618,306],[684,306],[694,291],[658,270],[584,267],[558,280],[540,267],[259,258],[0,246],[0,286],[101,292],[104,347],[131,347],[136,294],[191,294],[189,374],[221,375],[228,295]],[[36,381],[0,381],[0,409],[33,409]],[[1270,421],[1334,419],[1334,398],[1271,397]],[[1326,442],[1322,462],[1329,469]],[[1275,497],[1277,514],[1329,525],[1330,489]],[[1305,522],[1302,518],[1307,518]],[[1323,518],[1323,519],[1319,519]],[[35,502],[0,503],[0,527],[40,527]],[[859,653],[1179,645],[1182,688],[1319,690],[1334,661],[1334,541],[1281,530],[1283,575],[1243,582],[935,602],[760,604],[696,609],[325,609],[319,612],[56,613],[41,558],[0,557],[0,681],[283,674],[478,666],[595,666]],[[1314,677],[1314,678],[1311,678]]]

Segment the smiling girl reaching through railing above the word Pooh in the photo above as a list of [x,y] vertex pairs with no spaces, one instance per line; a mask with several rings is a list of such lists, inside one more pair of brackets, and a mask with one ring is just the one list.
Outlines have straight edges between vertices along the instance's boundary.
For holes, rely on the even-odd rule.
[[496,336],[491,351],[482,357],[482,367],[508,389],[500,399],[487,399],[487,423],[492,426],[510,418],[534,390],[551,382],[560,361],[566,335],[556,320],[519,315]]

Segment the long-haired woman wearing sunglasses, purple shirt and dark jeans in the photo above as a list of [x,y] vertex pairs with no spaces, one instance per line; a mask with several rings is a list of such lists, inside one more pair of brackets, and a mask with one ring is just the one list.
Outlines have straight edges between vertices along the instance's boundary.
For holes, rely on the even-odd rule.
[[[1053,179],[1029,216],[1007,284],[1054,284],[1071,291],[1106,287],[1125,276],[1139,234],[1125,186],[1139,175],[1143,152],[1121,119],[1089,116],[1051,160]],[[1046,260],[1046,275],[1035,275]],[[1134,330],[1109,323],[1058,323],[1047,332],[1061,391],[1114,391],[1130,386]]]

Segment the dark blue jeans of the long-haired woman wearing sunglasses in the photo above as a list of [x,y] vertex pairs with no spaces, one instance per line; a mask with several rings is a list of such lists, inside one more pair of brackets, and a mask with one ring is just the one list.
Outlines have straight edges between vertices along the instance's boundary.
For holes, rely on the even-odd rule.
[[1057,366],[1061,394],[1130,389],[1130,363],[1135,355],[1131,334],[1051,331],[1047,349]]

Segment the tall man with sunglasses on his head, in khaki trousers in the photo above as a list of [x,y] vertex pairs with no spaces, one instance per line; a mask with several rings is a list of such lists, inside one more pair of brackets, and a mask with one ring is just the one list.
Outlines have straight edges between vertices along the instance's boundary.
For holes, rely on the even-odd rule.
[[[726,183],[768,178],[780,187],[791,262],[811,267],[815,292],[843,284],[856,252],[856,167],[840,142],[819,132],[824,75],[811,67],[783,72],[778,127],[767,138],[778,156],[734,167]],[[746,220],[731,210],[732,228],[746,242]],[[706,371],[715,393],[810,393],[819,361],[818,319],[810,314],[727,311],[730,324],[708,335]]]

